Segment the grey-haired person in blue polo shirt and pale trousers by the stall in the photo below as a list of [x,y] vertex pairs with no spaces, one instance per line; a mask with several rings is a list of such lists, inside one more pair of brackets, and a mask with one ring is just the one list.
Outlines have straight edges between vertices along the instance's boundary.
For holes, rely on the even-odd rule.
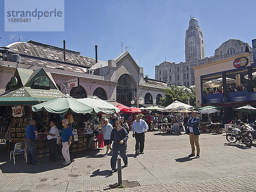
[[72,128],[68,125],[68,119],[63,119],[62,120],[62,125],[63,129],[61,131],[61,138],[58,141],[58,145],[60,145],[61,140],[62,140],[62,154],[65,159],[65,162],[63,163],[64,165],[68,165],[70,161],[70,154],[69,154],[69,146],[72,141]]

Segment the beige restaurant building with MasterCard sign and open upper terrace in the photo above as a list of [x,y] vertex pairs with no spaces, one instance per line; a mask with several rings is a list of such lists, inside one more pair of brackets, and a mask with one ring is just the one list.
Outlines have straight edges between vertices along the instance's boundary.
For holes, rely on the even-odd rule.
[[[224,119],[233,119],[233,108],[247,104],[256,106],[256,84],[253,80],[256,63],[253,51],[249,46],[244,49],[244,43],[231,47],[230,41],[241,43],[239,40],[229,40],[215,50],[218,59],[193,67],[197,107],[224,107]],[[222,57],[223,52],[229,56]]]

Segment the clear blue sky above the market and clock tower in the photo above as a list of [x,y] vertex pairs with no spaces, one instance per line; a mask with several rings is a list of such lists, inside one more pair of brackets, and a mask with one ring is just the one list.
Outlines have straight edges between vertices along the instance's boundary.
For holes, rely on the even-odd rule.
[[[256,38],[255,0],[65,0],[64,32],[4,32],[0,22],[0,46],[18,41],[38,41],[79,51],[108,61],[127,50],[144,75],[154,78],[154,66],[165,59],[185,61],[185,32],[189,15],[195,15],[203,31],[206,56],[223,42],[240,39],[251,46]],[[4,1],[0,1],[4,18]]]

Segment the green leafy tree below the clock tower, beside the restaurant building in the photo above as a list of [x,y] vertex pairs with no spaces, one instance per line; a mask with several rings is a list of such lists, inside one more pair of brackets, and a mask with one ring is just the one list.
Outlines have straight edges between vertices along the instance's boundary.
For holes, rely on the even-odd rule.
[[161,104],[164,107],[170,105],[172,102],[175,102],[175,101],[179,101],[187,104],[188,99],[194,99],[192,95],[186,95],[186,93],[182,90],[182,87],[175,87],[174,85],[171,85],[171,87],[168,87],[168,88],[164,88],[163,94],[164,94],[164,98],[162,98]]

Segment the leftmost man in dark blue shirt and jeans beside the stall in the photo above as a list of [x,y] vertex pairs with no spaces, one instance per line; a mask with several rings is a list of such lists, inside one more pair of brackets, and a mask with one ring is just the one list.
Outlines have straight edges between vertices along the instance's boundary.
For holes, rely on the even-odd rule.
[[27,145],[27,163],[33,165],[40,165],[36,160],[36,150],[35,150],[35,134],[38,131],[35,128],[35,120],[31,119],[29,125],[26,127],[26,145]]

